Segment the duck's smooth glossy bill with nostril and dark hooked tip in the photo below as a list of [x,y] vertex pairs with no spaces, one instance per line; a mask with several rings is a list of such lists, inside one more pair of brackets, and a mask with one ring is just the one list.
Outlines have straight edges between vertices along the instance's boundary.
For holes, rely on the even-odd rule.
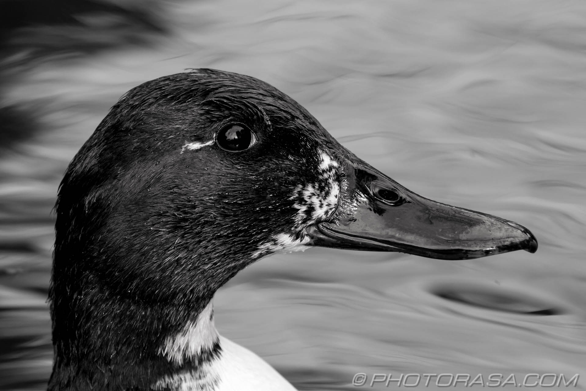
[[424,198],[357,158],[344,176],[338,210],[311,233],[315,246],[449,260],[537,251],[526,227]]

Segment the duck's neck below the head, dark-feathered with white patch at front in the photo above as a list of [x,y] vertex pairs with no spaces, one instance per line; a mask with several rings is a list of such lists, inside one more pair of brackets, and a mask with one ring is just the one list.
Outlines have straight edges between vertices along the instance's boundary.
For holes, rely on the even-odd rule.
[[217,383],[209,366],[222,349],[211,297],[160,305],[88,286],[53,299],[49,390],[173,390],[186,375]]

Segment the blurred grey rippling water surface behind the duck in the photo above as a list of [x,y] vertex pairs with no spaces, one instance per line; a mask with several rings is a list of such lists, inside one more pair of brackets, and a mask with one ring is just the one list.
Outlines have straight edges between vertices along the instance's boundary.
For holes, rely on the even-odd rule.
[[50,373],[64,168],[122,93],[189,67],[265,80],[411,190],[540,242],[475,261],[272,256],[217,293],[222,334],[302,390],[355,389],[356,372],[580,373],[584,388],[586,3],[118,2],[141,18],[104,4],[3,35],[1,389],[43,389]]

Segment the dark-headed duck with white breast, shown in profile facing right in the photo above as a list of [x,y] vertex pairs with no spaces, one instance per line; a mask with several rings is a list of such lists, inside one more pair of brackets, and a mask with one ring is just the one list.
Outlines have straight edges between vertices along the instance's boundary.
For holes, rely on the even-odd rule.
[[295,390],[214,327],[214,293],[270,254],[537,250],[526,227],[408,190],[280,90],[213,69],[124,94],[55,210],[49,391]]

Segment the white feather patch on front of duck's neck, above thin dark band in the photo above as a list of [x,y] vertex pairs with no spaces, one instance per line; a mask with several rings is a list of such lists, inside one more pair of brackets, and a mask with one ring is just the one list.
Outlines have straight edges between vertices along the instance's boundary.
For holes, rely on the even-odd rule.
[[186,359],[199,355],[202,351],[212,351],[219,335],[214,327],[213,304],[209,304],[197,315],[195,320],[187,322],[178,334],[168,336],[159,347],[159,353],[169,361],[181,365]]

